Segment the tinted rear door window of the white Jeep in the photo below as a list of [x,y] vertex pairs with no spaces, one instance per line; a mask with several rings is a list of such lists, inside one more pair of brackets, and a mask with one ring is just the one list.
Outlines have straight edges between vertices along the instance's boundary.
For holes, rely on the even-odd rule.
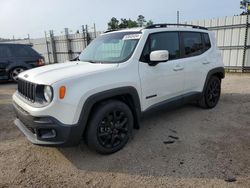
[[182,32],[184,57],[200,55],[204,52],[201,33]]

